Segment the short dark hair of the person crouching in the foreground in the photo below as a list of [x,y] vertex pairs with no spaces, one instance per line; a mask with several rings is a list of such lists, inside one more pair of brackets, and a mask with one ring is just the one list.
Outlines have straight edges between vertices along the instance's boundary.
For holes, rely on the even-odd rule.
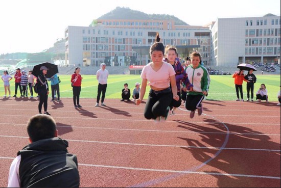
[[36,115],[29,119],[27,132],[32,142],[55,137],[56,122],[51,116]]

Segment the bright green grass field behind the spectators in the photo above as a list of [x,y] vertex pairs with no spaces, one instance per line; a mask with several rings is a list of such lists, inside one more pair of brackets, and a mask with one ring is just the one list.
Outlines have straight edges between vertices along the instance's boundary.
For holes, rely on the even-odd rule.
[[[61,98],[72,97],[72,87],[70,83],[71,75],[59,75],[61,79],[60,91]],[[277,92],[280,86],[280,75],[256,75],[257,83],[254,92],[260,88],[261,84],[265,84],[268,90],[269,101],[277,101]],[[236,100],[236,91],[234,79],[231,75],[211,75],[211,83],[209,88],[209,100]],[[131,93],[136,82],[141,83],[140,75],[109,75],[106,98],[121,98],[121,90],[124,83],[128,83]],[[14,95],[14,80],[11,80],[11,95]],[[96,75],[83,75],[81,98],[96,98],[98,90],[98,81]],[[19,91],[18,91],[19,92]],[[247,98],[246,83],[243,85],[244,99]],[[254,93],[255,94],[255,93]],[[4,86],[0,85],[0,96],[4,95]],[[148,88],[145,98],[148,95]],[[254,95],[255,99],[255,95]]]

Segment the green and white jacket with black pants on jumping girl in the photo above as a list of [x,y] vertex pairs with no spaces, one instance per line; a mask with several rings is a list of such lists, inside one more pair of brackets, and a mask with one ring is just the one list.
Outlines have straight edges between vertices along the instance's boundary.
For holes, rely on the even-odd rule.
[[209,91],[210,77],[207,69],[201,65],[193,68],[192,65],[185,68],[190,83],[193,85],[193,91],[188,91],[185,108],[194,111],[201,108],[201,102],[204,99],[203,91]]

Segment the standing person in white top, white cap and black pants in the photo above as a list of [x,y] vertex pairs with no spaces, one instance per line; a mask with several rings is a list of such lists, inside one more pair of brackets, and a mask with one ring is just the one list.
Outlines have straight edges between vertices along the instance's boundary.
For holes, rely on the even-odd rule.
[[105,99],[105,92],[106,92],[106,88],[107,88],[107,79],[108,79],[108,75],[109,75],[108,70],[106,70],[105,68],[106,68],[105,63],[102,63],[101,69],[97,71],[97,79],[99,82],[99,86],[98,86],[97,103],[95,106],[99,106],[101,94],[102,94],[101,105],[105,106],[104,99]]

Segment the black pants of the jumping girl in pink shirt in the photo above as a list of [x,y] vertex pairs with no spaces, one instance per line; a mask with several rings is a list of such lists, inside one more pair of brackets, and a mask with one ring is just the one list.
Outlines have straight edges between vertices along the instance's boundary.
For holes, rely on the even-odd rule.
[[[173,99],[172,92],[155,94],[152,90],[146,102],[145,118],[156,119],[159,116],[165,117],[169,113],[168,106]],[[168,111],[168,112],[167,112]]]

